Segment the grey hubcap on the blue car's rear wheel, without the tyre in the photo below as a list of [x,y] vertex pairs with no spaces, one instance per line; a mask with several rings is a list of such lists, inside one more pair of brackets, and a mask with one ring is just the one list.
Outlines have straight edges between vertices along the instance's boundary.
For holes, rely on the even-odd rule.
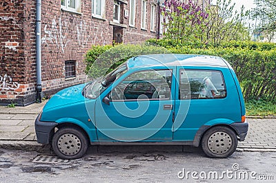
[[208,148],[212,153],[223,154],[232,146],[232,138],[224,131],[217,131],[208,138]]

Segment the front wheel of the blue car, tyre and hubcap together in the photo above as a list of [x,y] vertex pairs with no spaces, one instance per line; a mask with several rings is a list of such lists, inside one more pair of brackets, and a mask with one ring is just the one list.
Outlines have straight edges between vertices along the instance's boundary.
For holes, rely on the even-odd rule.
[[83,157],[88,149],[88,137],[77,127],[63,127],[52,137],[52,149],[63,159]]

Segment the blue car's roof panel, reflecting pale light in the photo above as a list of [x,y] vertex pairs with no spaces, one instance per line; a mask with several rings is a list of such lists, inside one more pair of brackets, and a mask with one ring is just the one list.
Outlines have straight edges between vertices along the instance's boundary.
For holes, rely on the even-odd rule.
[[228,67],[228,63],[218,56],[197,54],[149,54],[130,58],[128,68],[145,66],[205,66]]

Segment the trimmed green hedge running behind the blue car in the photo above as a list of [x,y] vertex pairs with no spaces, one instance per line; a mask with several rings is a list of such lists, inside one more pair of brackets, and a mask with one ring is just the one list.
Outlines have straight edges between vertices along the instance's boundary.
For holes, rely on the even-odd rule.
[[[242,85],[244,98],[259,100],[275,101],[276,100],[276,49],[272,43],[255,43],[255,42],[229,42],[221,44],[219,47],[208,47],[207,45],[198,45],[197,43],[184,43],[177,45],[170,40],[150,40],[150,43],[155,43],[166,47],[156,47],[154,45],[120,45],[112,47],[93,46],[86,54],[86,72],[88,72],[92,63],[96,58],[108,50],[104,54],[104,58],[114,56],[115,64],[112,64],[114,69],[117,65],[126,61],[132,56],[140,54],[160,54],[160,53],[175,53],[175,54],[206,54],[221,56],[225,58],[235,70],[239,82]],[[110,49],[112,48],[112,49]],[[104,59],[99,59],[99,62]],[[110,69],[109,69],[110,71]],[[102,73],[101,73],[102,74]]]

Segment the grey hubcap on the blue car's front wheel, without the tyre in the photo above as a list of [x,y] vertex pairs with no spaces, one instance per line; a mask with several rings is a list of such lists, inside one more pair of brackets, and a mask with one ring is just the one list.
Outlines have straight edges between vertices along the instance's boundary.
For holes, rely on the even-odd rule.
[[75,155],[81,150],[81,140],[72,133],[65,133],[59,137],[57,147],[64,155]]

